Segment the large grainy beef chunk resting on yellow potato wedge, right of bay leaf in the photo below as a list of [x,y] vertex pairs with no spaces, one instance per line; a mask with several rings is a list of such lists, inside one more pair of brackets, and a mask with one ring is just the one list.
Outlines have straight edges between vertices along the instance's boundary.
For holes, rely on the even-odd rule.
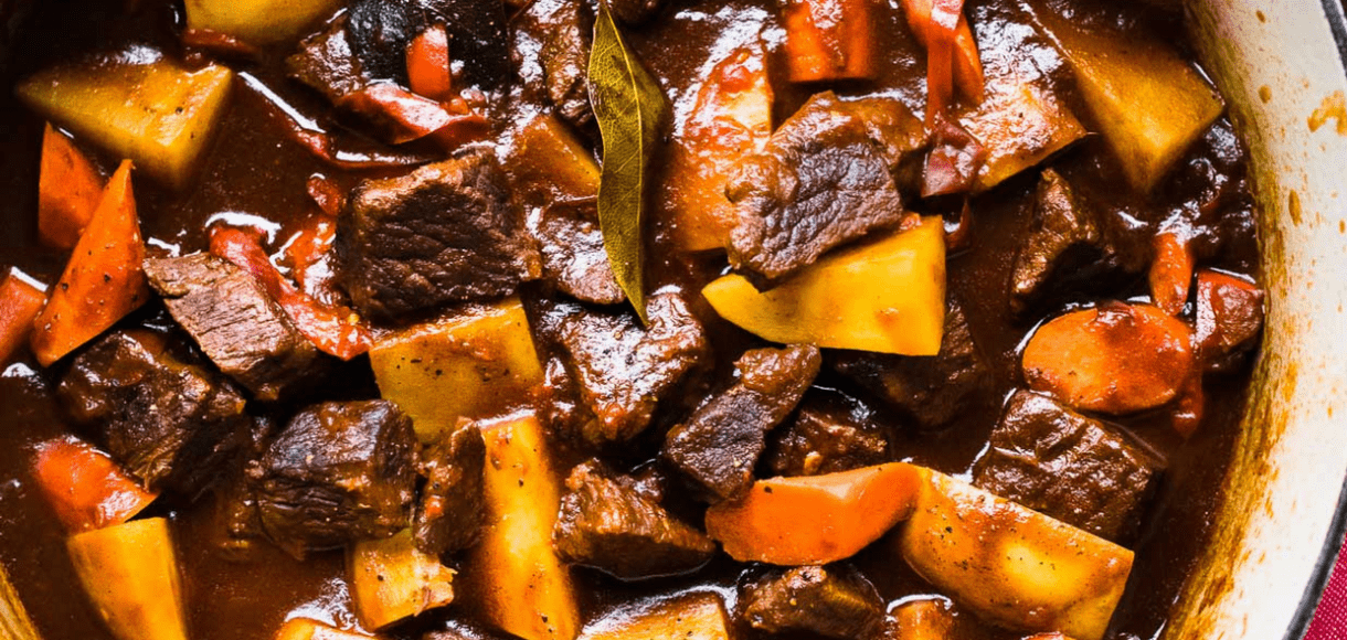
[[924,139],[889,98],[810,98],[730,175],[730,264],[780,282],[824,252],[902,220],[893,172]]

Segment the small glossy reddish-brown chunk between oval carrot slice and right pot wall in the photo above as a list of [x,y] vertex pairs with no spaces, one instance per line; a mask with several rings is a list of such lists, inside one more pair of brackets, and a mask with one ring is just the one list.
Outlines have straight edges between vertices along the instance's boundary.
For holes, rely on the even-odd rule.
[[1195,342],[1207,371],[1231,371],[1243,361],[1262,330],[1263,292],[1253,283],[1216,271],[1197,274]]

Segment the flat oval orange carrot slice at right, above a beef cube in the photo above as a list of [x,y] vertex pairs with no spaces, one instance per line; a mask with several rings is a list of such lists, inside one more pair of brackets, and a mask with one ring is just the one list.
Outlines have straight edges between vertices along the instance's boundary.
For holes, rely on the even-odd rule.
[[1024,349],[1029,388],[1086,411],[1158,407],[1193,375],[1188,325],[1149,305],[1109,303],[1043,325]]

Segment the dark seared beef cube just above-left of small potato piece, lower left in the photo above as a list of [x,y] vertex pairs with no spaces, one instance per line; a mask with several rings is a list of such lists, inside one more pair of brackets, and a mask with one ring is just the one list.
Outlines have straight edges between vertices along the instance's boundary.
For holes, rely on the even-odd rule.
[[387,400],[323,403],[295,415],[249,469],[261,525],[296,558],[411,524],[412,420]]

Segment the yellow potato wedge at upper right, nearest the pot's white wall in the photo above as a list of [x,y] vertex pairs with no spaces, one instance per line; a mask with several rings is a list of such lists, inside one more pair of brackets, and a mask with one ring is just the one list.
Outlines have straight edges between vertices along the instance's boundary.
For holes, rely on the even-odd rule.
[[1197,70],[1156,38],[1086,31],[1041,5],[1034,16],[1071,63],[1080,97],[1140,191],[1150,191],[1226,108]]

